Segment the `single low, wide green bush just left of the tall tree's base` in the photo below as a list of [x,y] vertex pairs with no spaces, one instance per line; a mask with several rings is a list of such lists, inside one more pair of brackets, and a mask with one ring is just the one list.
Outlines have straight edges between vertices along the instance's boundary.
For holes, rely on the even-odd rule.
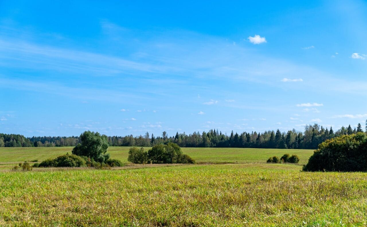
[[47,159],[39,164],[39,167],[83,167],[86,160],[77,155],[61,155],[56,159]]

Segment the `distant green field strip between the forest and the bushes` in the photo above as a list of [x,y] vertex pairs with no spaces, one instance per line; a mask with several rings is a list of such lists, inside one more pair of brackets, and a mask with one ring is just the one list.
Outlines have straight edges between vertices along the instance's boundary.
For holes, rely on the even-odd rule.
[[[54,148],[0,148],[0,164],[19,163],[37,159],[42,161],[71,153],[72,147]],[[109,147],[111,158],[127,162],[129,147]],[[149,148],[146,148],[149,149]],[[282,156],[284,153],[297,154],[299,163],[305,164],[313,150],[257,149],[257,148],[182,148],[198,162],[210,163],[265,163],[270,156]]]

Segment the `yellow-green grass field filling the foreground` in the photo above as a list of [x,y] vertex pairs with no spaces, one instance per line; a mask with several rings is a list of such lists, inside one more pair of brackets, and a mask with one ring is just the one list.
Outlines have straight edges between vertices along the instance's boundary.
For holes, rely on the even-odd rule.
[[225,164],[0,172],[0,225],[366,225],[366,173],[299,169]]

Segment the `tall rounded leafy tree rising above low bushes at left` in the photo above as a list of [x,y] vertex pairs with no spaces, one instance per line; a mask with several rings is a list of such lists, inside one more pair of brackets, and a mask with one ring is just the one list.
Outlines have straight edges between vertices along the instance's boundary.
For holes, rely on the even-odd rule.
[[80,135],[80,140],[81,144],[76,145],[72,150],[74,155],[90,157],[101,162],[108,159],[106,136],[102,136],[98,132],[85,131]]

